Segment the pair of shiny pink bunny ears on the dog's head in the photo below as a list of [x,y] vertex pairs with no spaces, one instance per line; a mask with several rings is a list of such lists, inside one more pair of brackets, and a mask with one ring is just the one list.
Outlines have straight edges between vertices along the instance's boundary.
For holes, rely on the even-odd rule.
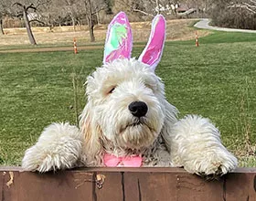
[[[157,15],[153,19],[151,34],[147,45],[138,60],[155,71],[162,57],[164,43],[165,18],[162,15]],[[132,28],[125,13],[120,12],[114,16],[108,27],[103,63],[111,62],[117,58],[131,58],[132,48]]]

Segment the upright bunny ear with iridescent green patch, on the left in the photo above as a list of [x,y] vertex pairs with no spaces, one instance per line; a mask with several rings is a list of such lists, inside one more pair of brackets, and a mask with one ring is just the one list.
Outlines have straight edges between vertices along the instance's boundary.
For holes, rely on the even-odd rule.
[[116,58],[131,58],[133,48],[132,28],[125,13],[118,13],[108,27],[103,63]]

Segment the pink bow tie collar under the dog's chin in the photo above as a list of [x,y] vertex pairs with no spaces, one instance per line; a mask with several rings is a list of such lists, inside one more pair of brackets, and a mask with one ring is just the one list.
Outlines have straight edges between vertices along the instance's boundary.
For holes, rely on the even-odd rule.
[[116,157],[110,153],[105,153],[103,163],[107,167],[140,167],[142,166],[143,158],[139,155]]

